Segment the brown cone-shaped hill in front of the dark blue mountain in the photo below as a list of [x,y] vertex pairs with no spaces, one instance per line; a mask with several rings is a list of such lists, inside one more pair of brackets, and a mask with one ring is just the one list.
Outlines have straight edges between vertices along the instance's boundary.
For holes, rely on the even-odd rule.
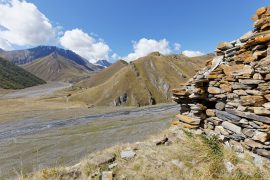
[[39,58],[32,63],[21,65],[25,70],[46,81],[78,82],[88,77],[85,66],[70,61],[58,52]]

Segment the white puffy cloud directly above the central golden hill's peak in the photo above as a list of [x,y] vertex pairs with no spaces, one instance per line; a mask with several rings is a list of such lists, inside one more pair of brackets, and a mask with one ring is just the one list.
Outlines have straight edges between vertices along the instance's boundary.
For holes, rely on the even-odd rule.
[[133,51],[134,52],[128,54],[127,57],[124,57],[123,59],[126,61],[133,61],[154,51],[158,51],[161,54],[172,53],[169,42],[166,39],[158,41],[155,39],[142,38],[138,42],[133,42]]

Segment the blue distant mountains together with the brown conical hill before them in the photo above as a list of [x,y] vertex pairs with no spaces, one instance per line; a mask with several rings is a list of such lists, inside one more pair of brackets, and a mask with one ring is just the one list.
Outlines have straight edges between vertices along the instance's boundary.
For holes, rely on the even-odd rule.
[[55,46],[38,46],[14,51],[0,50],[0,57],[23,67],[45,81],[71,83],[111,65],[106,60],[92,64],[73,51]]

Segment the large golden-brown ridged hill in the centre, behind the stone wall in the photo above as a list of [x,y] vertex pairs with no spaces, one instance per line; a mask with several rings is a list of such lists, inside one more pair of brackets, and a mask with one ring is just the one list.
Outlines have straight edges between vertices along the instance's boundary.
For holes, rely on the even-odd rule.
[[94,105],[144,106],[170,102],[171,89],[191,78],[213,55],[189,58],[151,53],[127,64],[119,61],[76,84],[70,100]]

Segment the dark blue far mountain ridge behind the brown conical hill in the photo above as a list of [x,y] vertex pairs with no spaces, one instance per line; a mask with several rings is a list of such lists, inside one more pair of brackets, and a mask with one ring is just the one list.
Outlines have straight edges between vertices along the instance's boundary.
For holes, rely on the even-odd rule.
[[89,63],[86,59],[70,50],[61,49],[55,46],[38,46],[35,48],[14,51],[0,51],[0,57],[9,60],[13,64],[29,64],[50,54],[57,53],[74,63],[84,66],[89,71],[99,70],[100,67]]

